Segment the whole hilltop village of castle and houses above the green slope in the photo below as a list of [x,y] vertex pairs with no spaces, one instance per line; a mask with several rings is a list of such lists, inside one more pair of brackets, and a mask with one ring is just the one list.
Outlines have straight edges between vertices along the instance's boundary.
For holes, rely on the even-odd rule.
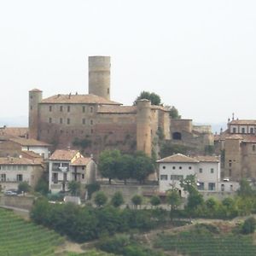
[[[20,182],[35,189],[44,177],[53,194],[67,192],[74,181],[83,188],[100,182],[110,194],[120,186],[128,197],[165,196],[174,187],[187,197],[179,182],[192,175],[204,196],[219,197],[234,193],[242,178],[254,182],[255,120],[233,116],[226,131],[213,135],[211,126],[173,118],[172,108],[148,99],[123,106],[111,99],[110,66],[109,56],[89,57],[89,94],[60,92],[44,98],[41,88],[29,91],[29,127],[0,129],[2,191],[18,189]],[[100,156],[113,150],[123,155],[143,152],[154,170],[138,183],[132,175],[125,184],[118,174],[102,175]]]

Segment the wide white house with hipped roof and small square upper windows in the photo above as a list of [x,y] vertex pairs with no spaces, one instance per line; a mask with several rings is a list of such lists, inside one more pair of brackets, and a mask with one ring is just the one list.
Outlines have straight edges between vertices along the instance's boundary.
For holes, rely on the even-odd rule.
[[218,191],[220,164],[215,156],[189,157],[184,154],[173,154],[157,161],[159,164],[160,192],[176,188],[183,197],[187,193],[180,186],[180,181],[189,175],[195,175],[198,189],[201,191]]

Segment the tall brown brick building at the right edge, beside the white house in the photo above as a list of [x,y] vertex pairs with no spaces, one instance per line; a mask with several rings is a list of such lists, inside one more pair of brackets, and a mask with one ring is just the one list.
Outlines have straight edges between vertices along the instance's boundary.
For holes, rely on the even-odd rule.
[[215,147],[223,154],[222,177],[240,181],[256,179],[256,120],[232,119],[226,131],[215,135]]

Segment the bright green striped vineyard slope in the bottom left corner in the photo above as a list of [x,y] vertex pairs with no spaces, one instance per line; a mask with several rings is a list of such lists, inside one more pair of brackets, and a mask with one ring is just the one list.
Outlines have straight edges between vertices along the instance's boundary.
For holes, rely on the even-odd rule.
[[51,256],[64,239],[54,231],[28,222],[0,208],[1,256]]

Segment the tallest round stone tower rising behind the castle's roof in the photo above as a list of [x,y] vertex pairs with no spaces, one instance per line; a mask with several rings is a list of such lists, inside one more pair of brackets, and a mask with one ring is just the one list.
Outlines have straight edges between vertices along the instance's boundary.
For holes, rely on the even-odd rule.
[[110,100],[110,56],[89,57],[89,93]]

